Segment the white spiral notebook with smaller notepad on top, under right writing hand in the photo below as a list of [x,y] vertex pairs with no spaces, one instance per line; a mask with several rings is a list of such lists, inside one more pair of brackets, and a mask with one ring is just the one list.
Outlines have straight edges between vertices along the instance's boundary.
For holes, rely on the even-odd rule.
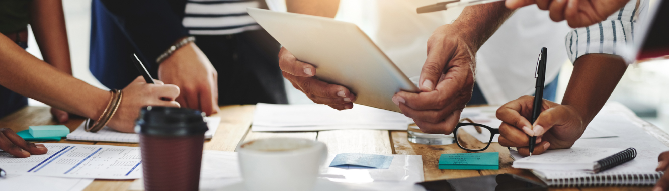
[[[614,154],[593,160],[611,153]],[[512,167],[531,169],[533,174],[551,187],[654,185],[662,177],[661,172],[642,172],[634,169],[634,166],[623,166],[636,156],[634,148],[622,151],[615,148],[570,148],[521,158],[514,161]],[[512,158],[520,157],[518,152],[512,151]],[[607,171],[618,166],[627,169]]]

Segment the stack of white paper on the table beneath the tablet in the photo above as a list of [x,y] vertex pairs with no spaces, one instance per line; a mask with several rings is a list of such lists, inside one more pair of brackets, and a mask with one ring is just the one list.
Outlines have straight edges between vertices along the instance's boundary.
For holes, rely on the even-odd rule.
[[341,129],[407,130],[403,114],[355,104],[335,110],[320,104],[257,104],[254,132],[291,132]]

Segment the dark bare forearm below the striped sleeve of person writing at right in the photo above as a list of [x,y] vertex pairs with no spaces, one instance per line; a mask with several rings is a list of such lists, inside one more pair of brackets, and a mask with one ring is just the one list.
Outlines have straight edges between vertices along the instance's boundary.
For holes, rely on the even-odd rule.
[[583,128],[604,106],[626,69],[624,59],[617,55],[591,53],[575,61],[562,104],[575,108],[583,118]]

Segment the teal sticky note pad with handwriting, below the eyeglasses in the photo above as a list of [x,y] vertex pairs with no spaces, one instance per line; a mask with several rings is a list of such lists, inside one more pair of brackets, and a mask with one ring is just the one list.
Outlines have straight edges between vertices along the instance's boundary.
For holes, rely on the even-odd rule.
[[499,170],[500,153],[479,152],[442,154],[439,158],[441,170]]

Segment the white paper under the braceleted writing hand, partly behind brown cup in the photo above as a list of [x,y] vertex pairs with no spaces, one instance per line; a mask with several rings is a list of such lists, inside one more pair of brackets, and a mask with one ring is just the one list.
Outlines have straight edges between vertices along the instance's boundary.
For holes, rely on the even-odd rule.
[[[207,127],[209,130],[205,132],[205,138],[210,139],[213,137],[213,134],[216,133],[219,124],[221,123],[221,118],[219,117],[205,117],[207,120]],[[74,132],[68,134],[68,140],[82,140],[82,141],[92,141],[92,142],[128,142],[128,143],[138,143],[139,135],[134,133],[124,133],[112,130],[112,128],[104,127],[98,132],[86,132],[84,130],[84,124],[82,123]]]

